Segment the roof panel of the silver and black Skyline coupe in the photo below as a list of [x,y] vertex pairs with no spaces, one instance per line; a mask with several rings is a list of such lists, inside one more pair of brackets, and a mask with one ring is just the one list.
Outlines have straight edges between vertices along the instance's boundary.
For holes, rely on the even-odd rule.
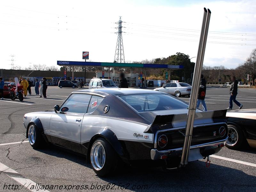
[[129,94],[165,94],[164,92],[147,90],[147,89],[134,89],[134,88],[107,88],[107,89],[84,89],[79,91],[74,91],[72,93],[97,93],[103,96],[106,95],[129,95]]

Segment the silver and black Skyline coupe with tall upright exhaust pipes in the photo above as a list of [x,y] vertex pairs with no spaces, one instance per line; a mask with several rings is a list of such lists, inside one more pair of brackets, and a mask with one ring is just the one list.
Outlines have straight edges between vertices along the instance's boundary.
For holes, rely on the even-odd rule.
[[[188,104],[164,92],[109,88],[72,92],[54,110],[24,115],[33,148],[47,143],[86,156],[100,176],[119,162],[180,163]],[[188,161],[218,152],[228,139],[226,110],[197,109]]]

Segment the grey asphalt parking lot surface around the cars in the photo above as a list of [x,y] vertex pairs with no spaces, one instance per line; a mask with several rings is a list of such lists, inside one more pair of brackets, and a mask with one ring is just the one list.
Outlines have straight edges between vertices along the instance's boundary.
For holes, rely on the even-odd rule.
[[[24,102],[0,100],[0,191],[29,191],[36,183],[63,186],[48,191],[84,191],[76,189],[77,185],[87,186],[90,191],[256,191],[256,149],[252,148],[235,151],[224,147],[210,157],[210,167],[205,166],[205,160],[168,172],[147,166],[124,167],[108,178],[99,178],[84,157],[55,147],[32,149],[25,136],[24,114],[53,109],[72,91],[49,87],[47,99],[31,95]],[[208,110],[227,108],[228,93],[228,88],[207,89]],[[237,100],[244,109],[256,108],[255,94],[254,88],[239,89]],[[188,97],[181,99],[189,101]],[[236,108],[234,105],[233,109]],[[23,186],[19,181],[26,184]]]

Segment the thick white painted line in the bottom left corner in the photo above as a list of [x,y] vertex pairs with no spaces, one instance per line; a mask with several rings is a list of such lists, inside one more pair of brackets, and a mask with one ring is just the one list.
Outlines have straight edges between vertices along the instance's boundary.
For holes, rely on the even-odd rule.
[[[48,190],[44,190],[44,189],[40,189],[41,186],[38,183],[35,183],[34,181],[27,179],[26,177],[24,177],[23,175],[21,175],[20,173],[18,173],[17,171],[11,169],[10,167],[7,167],[5,164],[2,164],[0,162],[0,171],[4,172],[8,177],[12,178],[13,180],[19,182],[21,185],[17,185],[17,189],[28,189],[30,191],[33,192],[49,192]],[[30,189],[32,186],[34,186],[34,189]],[[6,185],[6,189],[7,189],[8,185]],[[16,187],[16,185],[14,186]],[[14,189],[13,189],[14,190]]]

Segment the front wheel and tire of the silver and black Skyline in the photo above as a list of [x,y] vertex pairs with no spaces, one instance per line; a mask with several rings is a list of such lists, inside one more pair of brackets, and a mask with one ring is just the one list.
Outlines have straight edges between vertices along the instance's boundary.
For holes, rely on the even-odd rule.
[[44,144],[42,134],[34,123],[30,124],[28,127],[28,141],[34,149],[41,148]]

